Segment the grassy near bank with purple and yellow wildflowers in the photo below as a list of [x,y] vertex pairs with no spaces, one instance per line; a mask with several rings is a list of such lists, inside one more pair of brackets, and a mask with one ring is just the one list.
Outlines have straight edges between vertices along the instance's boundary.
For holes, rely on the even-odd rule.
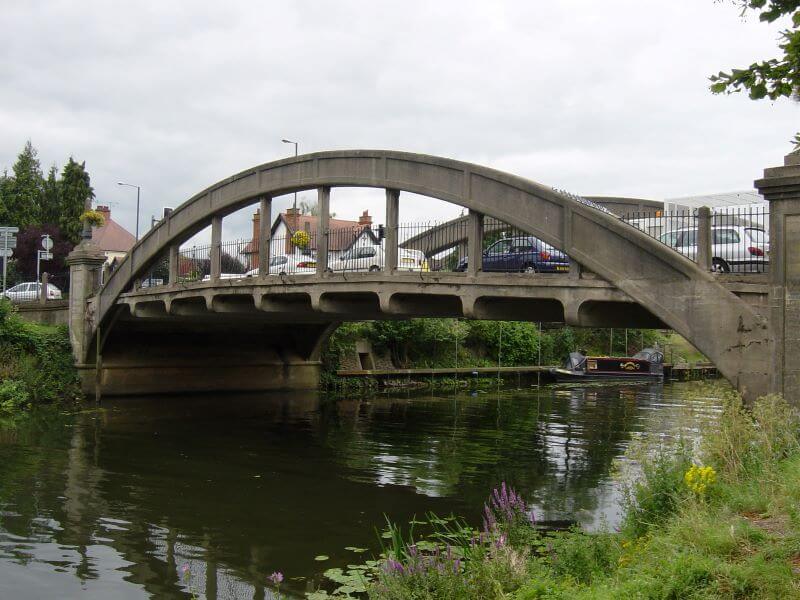
[[725,392],[709,425],[698,443],[629,452],[618,531],[538,530],[503,484],[479,529],[433,517],[420,538],[390,525],[381,560],[330,575],[376,600],[800,598],[797,412],[777,397],[748,411]]

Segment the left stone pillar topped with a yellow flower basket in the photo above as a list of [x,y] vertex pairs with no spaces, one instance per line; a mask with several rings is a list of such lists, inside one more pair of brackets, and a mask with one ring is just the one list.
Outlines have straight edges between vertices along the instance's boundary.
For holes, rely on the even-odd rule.
[[[69,266],[69,337],[72,355],[78,368],[86,368],[85,362],[91,347],[94,328],[93,313],[89,298],[97,291],[98,273],[106,257],[95,244],[84,239],[67,256]],[[92,369],[94,365],[89,365]]]

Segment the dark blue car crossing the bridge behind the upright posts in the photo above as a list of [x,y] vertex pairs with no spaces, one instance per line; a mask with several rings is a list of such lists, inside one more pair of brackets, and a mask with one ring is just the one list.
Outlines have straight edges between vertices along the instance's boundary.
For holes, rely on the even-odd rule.
[[[468,257],[456,271],[466,271]],[[569,271],[569,257],[537,237],[516,236],[496,241],[483,251],[483,270],[503,273],[562,273]]]

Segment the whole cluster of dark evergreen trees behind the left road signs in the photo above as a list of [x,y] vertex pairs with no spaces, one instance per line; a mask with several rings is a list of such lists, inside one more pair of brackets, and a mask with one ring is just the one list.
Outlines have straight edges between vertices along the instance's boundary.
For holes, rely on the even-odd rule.
[[20,230],[9,264],[10,283],[36,273],[36,253],[45,234],[54,243],[46,270],[66,268],[64,259],[81,241],[81,215],[95,197],[85,162],[70,156],[60,171],[53,164],[45,176],[38,154],[28,140],[11,172],[6,169],[0,176],[0,225]]

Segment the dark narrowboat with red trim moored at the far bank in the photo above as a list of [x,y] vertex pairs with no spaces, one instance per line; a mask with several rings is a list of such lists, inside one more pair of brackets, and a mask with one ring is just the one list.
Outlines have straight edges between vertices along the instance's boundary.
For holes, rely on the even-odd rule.
[[556,381],[661,381],[664,378],[664,353],[645,348],[633,356],[586,356],[570,352],[564,367],[550,369]]

